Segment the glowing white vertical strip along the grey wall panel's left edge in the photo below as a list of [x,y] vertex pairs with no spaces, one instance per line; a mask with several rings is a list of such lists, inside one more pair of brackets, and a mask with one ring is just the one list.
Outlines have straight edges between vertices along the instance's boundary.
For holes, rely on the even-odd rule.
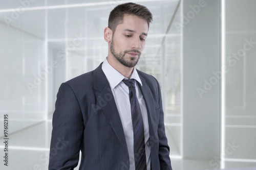
[[[183,14],[183,1],[180,4],[180,16]],[[183,23],[182,17],[180,17],[180,23]],[[180,151],[181,158],[183,158],[183,27],[180,29],[180,75],[181,75],[181,109],[180,109],[180,117],[181,117],[181,137],[180,137]]]

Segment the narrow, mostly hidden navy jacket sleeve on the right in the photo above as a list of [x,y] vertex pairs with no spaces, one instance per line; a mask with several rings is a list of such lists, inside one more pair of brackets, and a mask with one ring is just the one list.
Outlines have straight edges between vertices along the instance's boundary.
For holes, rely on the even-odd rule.
[[160,169],[161,170],[172,170],[172,165],[170,163],[169,157],[169,146],[167,143],[167,137],[165,135],[165,128],[164,128],[164,113],[163,113],[163,106],[162,106],[162,95],[160,90],[160,85],[158,84],[158,91],[159,91],[159,124],[158,124],[158,138],[159,138],[159,162],[160,162]]

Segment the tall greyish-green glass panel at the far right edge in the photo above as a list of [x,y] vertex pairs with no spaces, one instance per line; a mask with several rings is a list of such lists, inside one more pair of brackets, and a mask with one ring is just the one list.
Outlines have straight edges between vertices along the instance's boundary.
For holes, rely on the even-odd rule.
[[[255,1],[226,1],[225,158],[255,161]],[[232,146],[232,147],[231,147]]]

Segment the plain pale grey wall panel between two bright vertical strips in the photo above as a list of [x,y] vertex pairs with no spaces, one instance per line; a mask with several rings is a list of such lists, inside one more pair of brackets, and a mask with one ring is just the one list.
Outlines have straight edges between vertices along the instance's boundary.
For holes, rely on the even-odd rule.
[[184,0],[183,14],[183,156],[212,159],[220,150],[220,80],[212,74],[220,70],[220,1]]

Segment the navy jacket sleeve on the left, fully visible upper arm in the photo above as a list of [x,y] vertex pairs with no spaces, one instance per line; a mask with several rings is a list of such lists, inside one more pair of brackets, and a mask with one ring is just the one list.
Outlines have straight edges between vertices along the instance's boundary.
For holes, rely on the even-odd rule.
[[52,125],[49,170],[74,169],[79,160],[83,121],[75,93],[67,83],[59,87]]

